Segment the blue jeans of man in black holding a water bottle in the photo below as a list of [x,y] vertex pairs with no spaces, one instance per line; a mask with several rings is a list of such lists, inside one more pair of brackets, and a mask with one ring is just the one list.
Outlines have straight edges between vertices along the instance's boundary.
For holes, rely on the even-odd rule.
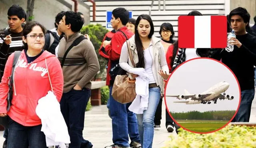
[[249,122],[254,93],[255,89],[248,89],[241,92],[240,107],[235,116],[236,122]]

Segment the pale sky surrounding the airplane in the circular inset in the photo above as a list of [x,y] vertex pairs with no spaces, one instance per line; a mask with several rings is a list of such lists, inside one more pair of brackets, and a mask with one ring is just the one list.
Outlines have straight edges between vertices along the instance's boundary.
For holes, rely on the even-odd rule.
[[166,105],[171,112],[188,111],[220,111],[236,110],[239,105],[239,85],[232,72],[223,64],[211,59],[193,59],[182,64],[170,77],[166,86],[166,95],[185,95],[184,89],[190,94],[200,94],[213,85],[226,81],[229,88],[226,94],[234,96],[233,100],[218,100],[217,104],[195,104],[173,103],[173,101],[186,101],[176,97],[166,97]]

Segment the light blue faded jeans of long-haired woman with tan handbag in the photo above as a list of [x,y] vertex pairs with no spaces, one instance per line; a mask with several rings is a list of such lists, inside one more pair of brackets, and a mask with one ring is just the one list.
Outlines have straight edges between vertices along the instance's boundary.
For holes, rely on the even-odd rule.
[[142,148],[152,148],[154,137],[154,116],[160,100],[160,87],[149,89],[148,109],[136,114]]

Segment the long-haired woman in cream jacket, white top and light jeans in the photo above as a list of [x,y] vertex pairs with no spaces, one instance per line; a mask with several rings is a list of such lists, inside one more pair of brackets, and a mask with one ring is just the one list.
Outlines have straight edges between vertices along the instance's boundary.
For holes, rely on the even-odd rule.
[[135,24],[135,35],[129,39],[136,68],[132,66],[130,61],[126,42],[122,46],[119,61],[120,67],[130,73],[130,78],[138,77],[132,73],[137,68],[144,68],[149,78],[148,108],[143,111],[143,114],[136,114],[142,148],[152,148],[154,115],[160,95],[164,94],[163,78],[158,72],[161,70],[169,72],[161,39],[154,37],[153,34],[154,25],[150,16],[146,14],[138,16]]

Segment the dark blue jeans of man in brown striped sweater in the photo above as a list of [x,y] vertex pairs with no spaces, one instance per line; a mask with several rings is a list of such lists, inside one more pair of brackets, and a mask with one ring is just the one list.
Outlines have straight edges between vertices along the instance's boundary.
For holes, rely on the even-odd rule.
[[92,148],[91,142],[83,138],[84,114],[90,95],[91,90],[87,88],[62,94],[60,110],[68,127],[69,148]]

